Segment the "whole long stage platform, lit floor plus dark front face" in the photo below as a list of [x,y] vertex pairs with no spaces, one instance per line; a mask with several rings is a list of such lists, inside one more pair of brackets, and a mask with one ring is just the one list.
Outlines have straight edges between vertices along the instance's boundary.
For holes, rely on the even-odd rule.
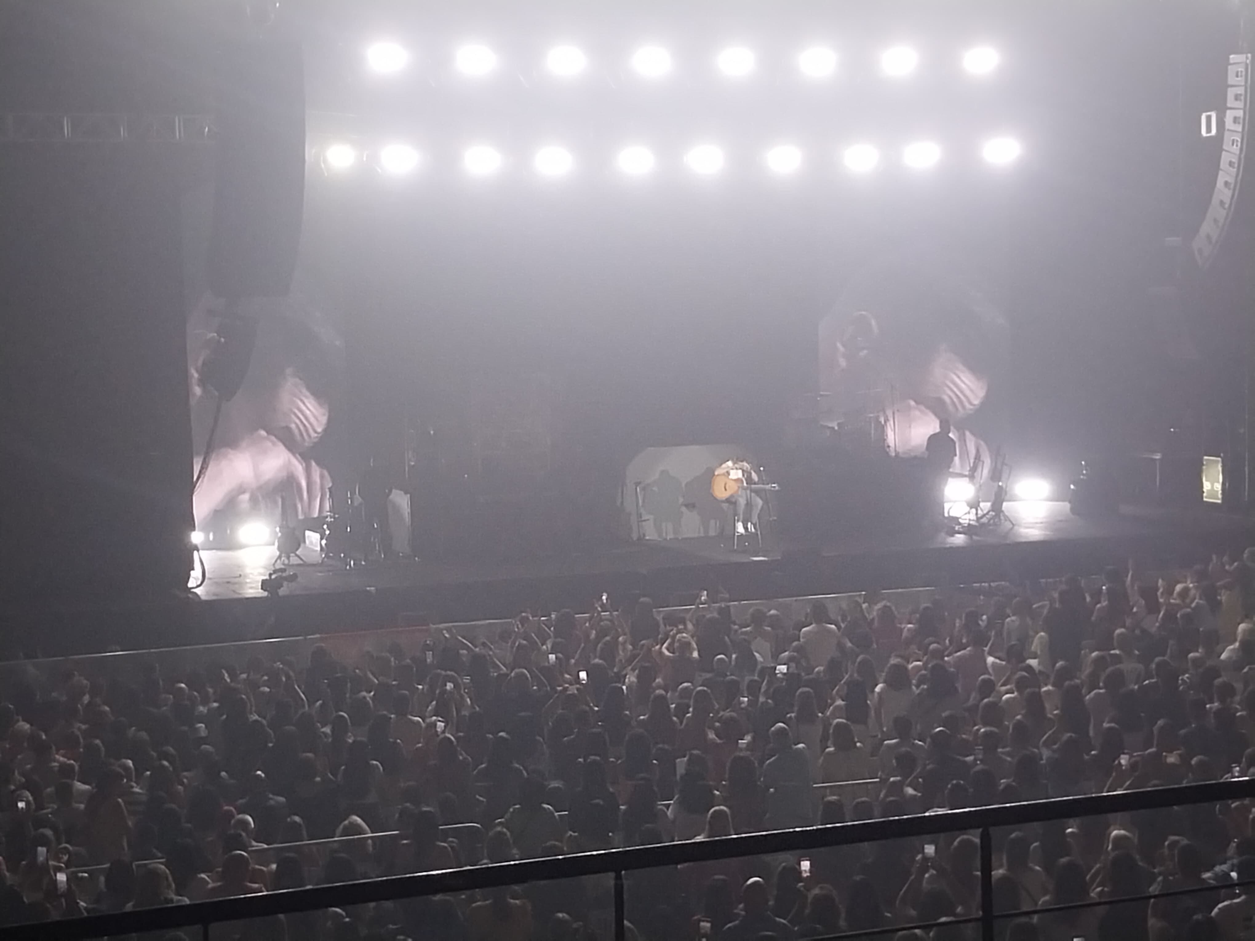
[[[201,617],[220,640],[394,626],[402,620],[476,620],[521,610],[587,609],[643,591],[658,603],[684,602],[702,588],[737,600],[784,595],[961,585],[1094,573],[1130,557],[1143,567],[1206,561],[1255,542],[1250,521],[1207,512],[1126,509],[1084,519],[1067,503],[1009,503],[1014,528],[979,536],[944,531],[896,537],[836,533],[822,548],[733,551],[714,537],[640,541],[576,556],[483,563],[392,560],[346,571],[294,565],[279,598],[261,581],[270,547],[205,552]],[[265,625],[265,626],[264,626]],[[205,640],[205,637],[202,637]]]

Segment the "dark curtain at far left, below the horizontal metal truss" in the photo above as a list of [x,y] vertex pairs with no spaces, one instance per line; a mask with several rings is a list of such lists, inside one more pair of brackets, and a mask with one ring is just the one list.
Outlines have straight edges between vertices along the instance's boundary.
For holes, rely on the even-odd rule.
[[0,597],[186,587],[191,445],[172,154],[0,151]]

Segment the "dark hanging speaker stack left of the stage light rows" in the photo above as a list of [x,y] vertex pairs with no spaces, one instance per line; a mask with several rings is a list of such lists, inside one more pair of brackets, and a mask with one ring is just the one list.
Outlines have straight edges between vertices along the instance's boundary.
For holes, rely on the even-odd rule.
[[232,43],[215,72],[217,109],[210,290],[282,297],[296,268],[305,202],[305,75],[300,46]]

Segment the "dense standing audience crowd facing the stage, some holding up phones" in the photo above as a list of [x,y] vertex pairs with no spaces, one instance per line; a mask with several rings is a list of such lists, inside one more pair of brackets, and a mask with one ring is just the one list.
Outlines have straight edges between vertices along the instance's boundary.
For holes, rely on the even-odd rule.
[[[177,675],[153,660],[129,679],[108,660],[90,675],[31,669],[0,690],[0,925],[1247,777],[1252,612],[1255,551],[1157,583],[1130,568],[1043,597],[1008,588],[979,610],[867,597],[738,624],[704,593],[663,616],[648,598],[602,598],[586,617],[521,616],[478,646],[417,629],[413,649],[351,664],[319,646],[307,662]],[[1255,886],[1232,886],[1255,882],[1251,809],[996,833],[995,905],[1028,912],[999,936],[1255,937]],[[537,883],[254,927],[607,938],[611,892],[602,878]],[[979,847],[955,834],[629,873],[626,898],[649,941],[939,920],[958,921],[899,937],[975,937],[961,920],[980,913]],[[1103,905],[1048,911],[1089,900]]]

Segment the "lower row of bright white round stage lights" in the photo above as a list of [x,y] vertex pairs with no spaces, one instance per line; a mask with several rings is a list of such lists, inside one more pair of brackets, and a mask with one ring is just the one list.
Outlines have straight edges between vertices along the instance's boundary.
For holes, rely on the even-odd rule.
[[[986,163],[1005,167],[1019,158],[1022,147],[1015,138],[994,137],[981,142],[976,152]],[[424,163],[419,151],[403,143],[388,144],[370,154],[364,154],[349,143],[333,143],[321,148],[319,156],[328,173],[346,173],[369,164],[382,173],[400,177],[418,171]],[[902,147],[896,157],[902,166],[922,171],[937,166],[944,153],[940,144],[915,141]],[[796,173],[806,163],[802,149],[793,144],[773,147],[758,159],[767,171],[777,176]],[[853,173],[870,173],[887,162],[886,156],[870,143],[846,147],[837,154],[837,159]],[[728,157],[720,147],[707,143],[689,149],[683,154],[681,162],[693,173],[709,177],[727,168]],[[462,168],[473,177],[496,176],[506,166],[506,154],[487,144],[476,144],[462,152]],[[563,147],[542,147],[532,154],[531,166],[542,177],[565,177],[576,169],[576,158]],[[612,166],[626,176],[643,177],[659,168],[659,159],[648,147],[634,144],[619,151],[612,158]]]

